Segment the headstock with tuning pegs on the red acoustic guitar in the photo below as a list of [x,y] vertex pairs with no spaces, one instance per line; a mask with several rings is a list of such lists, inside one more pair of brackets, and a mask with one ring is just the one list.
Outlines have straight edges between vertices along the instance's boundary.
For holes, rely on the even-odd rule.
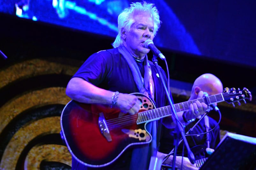
[[240,100],[243,100],[245,103],[245,99],[249,99],[252,101],[252,94],[247,88],[243,88],[243,90],[240,90],[238,88],[237,90],[235,88],[225,88],[223,91],[223,98],[226,102],[232,103],[232,105],[235,107],[234,102],[238,102],[238,105],[241,105]]

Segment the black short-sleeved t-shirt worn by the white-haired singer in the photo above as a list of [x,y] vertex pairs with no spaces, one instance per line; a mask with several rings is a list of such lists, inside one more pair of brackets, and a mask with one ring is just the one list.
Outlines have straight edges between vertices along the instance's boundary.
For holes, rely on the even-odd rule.
[[[155,85],[156,107],[167,105],[165,89],[161,83],[157,67],[149,61],[152,77]],[[165,85],[167,78],[165,71],[160,67]],[[134,81],[133,74],[129,69],[126,59],[119,53],[117,48],[99,51],[92,54],[84,64],[78,69],[73,77],[80,77],[109,91],[118,91],[121,93],[139,92]],[[156,92],[157,89],[157,92]]]

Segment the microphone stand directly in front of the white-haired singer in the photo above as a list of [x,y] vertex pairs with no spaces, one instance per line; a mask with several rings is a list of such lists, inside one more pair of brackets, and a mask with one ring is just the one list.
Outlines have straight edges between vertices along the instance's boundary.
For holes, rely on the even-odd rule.
[[[160,69],[159,69],[157,57],[156,57],[155,55],[153,55],[152,62],[156,65],[158,74],[159,74],[160,79],[161,79],[161,82],[162,82],[162,84],[163,84],[163,86],[164,86],[164,88],[165,88],[165,93],[166,93],[166,96],[167,96],[167,98],[168,98],[169,104],[170,104],[170,106],[171,106],[172,120],[173,120],[173,121],[176,121],[176,131],[178,130],[178,132],[176,132],[176,134],[177,134],[177,135],[176,135],[176,136],[177,136],[177,137],[176,137],[176,141],[178,141],[179,136],[181,135],[181,137],[182,137],[182,139],[183,139],[183,141],[184,141],[184,144],[185,144],[185,146],[187,147],[188,159],[189,159],[189,161],[190,161],[192,164],[194,164],[194,163],[195,163],[194,154],[191,152],[190,147],[188,146],[187,139],[186,139],[186,137],[185,137],[185,132],[184,132],[183,125],[180,124],[179,118],[178,118],[178,116],[177,116],[177,113],[176,113],[176,111],[175,111],[174,108],[173,108],[173,103],[172,103],[172,100],[171,100],[171,97],[170,97],[171,94],[169,94],[169,92],[168,92],[168,90],[167,90],[167,87],[166,87],[166,85],[165,85],[165,81],[164,81],[163,76],[162,76],[162,74],[161,74],[161,71],[160,71]],[[175,120],[174,120],[174,119],[175,119]],[[177,154],[177,144],[178,144],[178,142],[175,142],[175,151],[174,151],[174,154],[173,154],[172,169],[173,169],[173,168],[175,169],[175,160],[176,160],[176,154]]]

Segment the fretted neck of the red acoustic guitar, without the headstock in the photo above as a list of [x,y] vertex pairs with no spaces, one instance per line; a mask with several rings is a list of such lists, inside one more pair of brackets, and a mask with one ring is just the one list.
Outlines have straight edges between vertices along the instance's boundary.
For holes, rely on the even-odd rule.
[[[203,97],[200,99],[194,99],[194,100],[189,100],[186,102],[174,104],[173,106],[174,106],[174,109],[176,112],[183,112],[183,111],[189,110],[189,105],[195,103],[195,101],[197,101],[197,100],[199,102],[203,102],[207,105],[211,105],[214,103],[224,101],[224,98],[223,98],[222,93],[220,93],[220,94],[216,94],[216,95],[212,95],[212,96]],[[159,107],[156,109],[151,109],[151,110],[144,111],[144,112],[139,112],[137,124],[157,120],[157,119],[169,116],[171,114],[172,114],[172,111],[171,111],[170,105],[164,106],[164,107]]]

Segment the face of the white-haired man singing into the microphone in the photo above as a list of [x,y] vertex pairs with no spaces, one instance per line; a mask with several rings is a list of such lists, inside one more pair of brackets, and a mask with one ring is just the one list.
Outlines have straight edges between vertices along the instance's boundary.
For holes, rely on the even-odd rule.
[[154,23],[149,15],[139,14],[134,16],[135,23],[131,25],[128,32],[123,32],[124,46],[138,58],[144,56],[150,51],[145,48],[144,42],[154,38]]

